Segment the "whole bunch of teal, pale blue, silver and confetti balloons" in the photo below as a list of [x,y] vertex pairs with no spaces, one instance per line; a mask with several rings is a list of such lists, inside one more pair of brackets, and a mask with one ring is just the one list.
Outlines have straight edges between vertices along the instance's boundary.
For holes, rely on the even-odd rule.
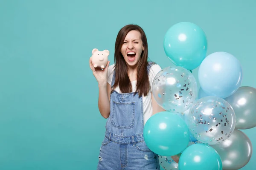
[[[154,78],[152,95],[166,111],[146,122],[147,146],[166,170],[244,167],[252,144],[239,129],[256,127],[256,88],[241,87],[239,60],[222,51],[206,56],[206,35],[189,22],[169,28],[164,51],[175,66]],[[191,71],[197,67],[199,83]]]

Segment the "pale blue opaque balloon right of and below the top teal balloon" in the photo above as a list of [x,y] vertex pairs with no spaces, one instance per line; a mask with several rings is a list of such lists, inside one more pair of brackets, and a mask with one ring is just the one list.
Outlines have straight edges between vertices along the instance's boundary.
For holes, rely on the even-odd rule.
[[208,96],[226,98],[241,85],[242,67],[238,59],[227,52],[207,56],[198,70],[198,80]]

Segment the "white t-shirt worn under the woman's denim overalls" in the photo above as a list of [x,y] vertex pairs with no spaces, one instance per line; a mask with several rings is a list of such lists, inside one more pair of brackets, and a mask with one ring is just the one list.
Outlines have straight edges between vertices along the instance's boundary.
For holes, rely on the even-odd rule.
[[[110,65],[108,67],[108,84],[110,84],[110,85],[111,85],[112,78],[113,78],[114,65],[115,64]],[[157,75],[157,73],[159,71],[161,71],[160,65],[154,64],[154,65],[151,66],[151,68],[150,68],[150,70],[148,72],[148,78],[149,78],[149,82],[150,82],[150,90],[149,90],[147,96],[143,96],[142,97],[142,100],[143,100],[143,119],[144,119],[144,125],[147,122],[147,120],[153,114],[152,100],[151,100],[151,89],[152,89],[152,83],[153,83],[154,77]],[[131,82],[132,92],[136,91],[136,82],[137,82],[137,80]],[[118,93],[121,93],[118,86],[115,88],[115,91],[117,91]]]

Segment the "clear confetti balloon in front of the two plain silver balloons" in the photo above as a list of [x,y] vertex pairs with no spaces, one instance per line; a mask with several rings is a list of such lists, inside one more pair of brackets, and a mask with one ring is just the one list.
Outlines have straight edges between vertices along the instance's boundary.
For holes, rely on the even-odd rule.
[[233,133],[236,115],[231,105],[224,99],[206,96],[192,106],[186,123],[199,142],[218,144]]

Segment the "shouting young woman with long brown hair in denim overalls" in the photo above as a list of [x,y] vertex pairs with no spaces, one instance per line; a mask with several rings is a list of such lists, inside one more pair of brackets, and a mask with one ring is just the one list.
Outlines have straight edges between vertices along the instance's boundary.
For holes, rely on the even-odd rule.
[[106,123],[97,170],[160,170],[157,155],[145,144],[143,127],[164,111],[151,94],[161,70],[148,62],[148,42],[140,26],[126,25],[116,37],[115,64],[90,68],[99,83],[99,111]]

